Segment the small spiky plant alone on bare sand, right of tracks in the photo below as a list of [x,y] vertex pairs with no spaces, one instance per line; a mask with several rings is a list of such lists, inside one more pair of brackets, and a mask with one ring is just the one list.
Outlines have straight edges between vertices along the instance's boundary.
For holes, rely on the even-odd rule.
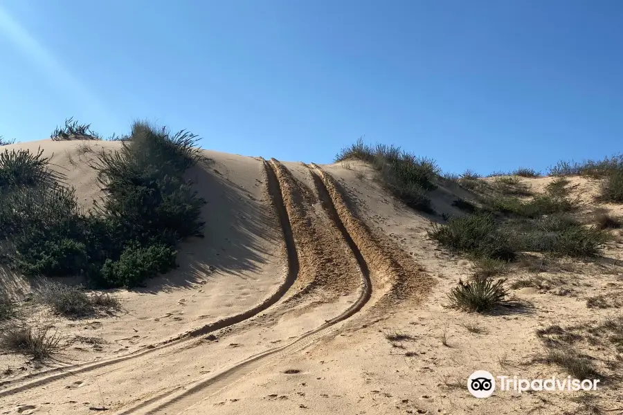
[[504,280],[494,282],[491,278],[478,278],[459,284],[448,295],[450,306],[462,311],[484,313],[505,304],[507,291]]

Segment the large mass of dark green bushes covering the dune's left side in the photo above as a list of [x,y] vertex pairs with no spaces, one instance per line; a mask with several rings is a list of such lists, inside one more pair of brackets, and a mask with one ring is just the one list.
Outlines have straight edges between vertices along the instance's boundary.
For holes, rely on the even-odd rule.
[[[84,134],[98,137],[69,119],[53,136]],[[12,266],[33,276],[81,275],[93,286],[136,286],[174,268],[181,239],[203,236],[205,201],[183,179],[201,160],[197,136],[135,122],[122,141],[93,163],[105,196],[88,212],[73,189],[42,179],[49,160],[42,151],[0,155],[0,241]]]

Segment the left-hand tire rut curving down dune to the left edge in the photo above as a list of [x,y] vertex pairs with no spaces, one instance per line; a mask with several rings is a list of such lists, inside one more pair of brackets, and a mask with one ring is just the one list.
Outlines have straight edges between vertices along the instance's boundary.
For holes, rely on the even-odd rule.
[[15,380],[10,380],[8,382],[0,383],[0,386],[7,386],[12,384],[19,384],[19,382],[24,382],[26,380],[31,380],[30,382],[21,383],[21,385],[17,385],[16,387],[8,388],[0,391],[0,398],[3,396],[8,396],[11,394],[16,394],[20,391],[24,391],[26,389],[30,389],[33,387],[38,387],[42,385],[46,385],[48,383],[54,382],[56,380],[61,380],[67,378],[68,376],[75,376],[78,374],[84,374],[89,371],[93,371],[96,369],[100,369],[102,367],[107,367],[110,365],[115,365],[117,363],[127,362],[129,360],[134,360],[136,358],[141,358],[142,356],[155,353],[157,351],[162,351],[163,349],[168,349],[170,347],[177,346],[179,344],[186,343],[192,339],[195,339],[201,335],[206,335],[213,331],[217,331],[219,329],[224,329],[228,326],[232,326],[234,324],[243,322],[245,320],[249,320],[251,317],[255,317],[262,311],[267,310],[267,308],[276,304],[287,291],[291,288],[291,286],[296,281],[298,276],[299,264],[298,264],[298,255],[296,252],[296,245],[294,243],[294,237],[292,234],[291,225],[289,222],[289,218],[287,215],[287,211],[285,208],[285,203],[283,201],[282,190],[280,187],[280,182],[278,178],[269,166],[269,163],[262,159],[262,163],[264,166],[264,173],[267,176],[267,192],[271,199],[271,205],[273,205],[273,209],[276,210],[279,222],[282,229],[283,238],[285,239],[285,248],[287,255],[287,267],[288,272],[285,280],[279,286],[278,290],[271,294],[270,297],[264,299],[263,302],[257,304],[253,308],[250,308],[243,313],[239,313],[236,315],[232,315],[229,317],[224,317],[221,320],[217,320],[216,322],[206,324],[204,326],[199,327],[198,329],[194,329],[191,331],[187,331],[176,338],[172,338],[170,340],[165,340],[160,344],[154,346],[146,346],[145,349],[136,351],[134,353],[130,353],[125,356],[120,356],[118,358],[110,358],[107,360],[101,360],[99,362],[91,362],[91,363],[83,363],[78,365],[69,365],[64,367],[57,367],[54,369],[49,369],[47,371],[39,372],[36,375],[24,376],[23,378],[18,378]]

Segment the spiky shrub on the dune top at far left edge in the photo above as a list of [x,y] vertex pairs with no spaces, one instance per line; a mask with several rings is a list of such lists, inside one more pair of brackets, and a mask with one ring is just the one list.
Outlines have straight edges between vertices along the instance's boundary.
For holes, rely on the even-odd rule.
[[28,150],[5,149],[0,153],[0,193],[9,187],[30,186],[44,182],[48,176],[46,168],[50,158],[43,156],[43,150],[36,154]]

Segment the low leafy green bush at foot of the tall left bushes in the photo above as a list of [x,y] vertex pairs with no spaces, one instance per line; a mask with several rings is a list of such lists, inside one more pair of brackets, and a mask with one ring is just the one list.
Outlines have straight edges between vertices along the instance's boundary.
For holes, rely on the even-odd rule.
[[102,267],[102,278],[113,286],[134,287],[145,279],[175,268],[177,251],[163,244],[141,248],[128,246],[118,261],[107,259]]

